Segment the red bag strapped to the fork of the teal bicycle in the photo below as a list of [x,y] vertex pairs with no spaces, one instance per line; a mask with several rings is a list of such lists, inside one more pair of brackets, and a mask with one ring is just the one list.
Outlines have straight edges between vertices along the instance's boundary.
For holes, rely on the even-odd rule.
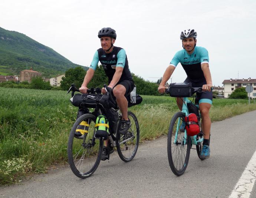
[[186,130],[188,136],[195,136],[200,132],[200,126],[196,114],[190,113],[185,116]]

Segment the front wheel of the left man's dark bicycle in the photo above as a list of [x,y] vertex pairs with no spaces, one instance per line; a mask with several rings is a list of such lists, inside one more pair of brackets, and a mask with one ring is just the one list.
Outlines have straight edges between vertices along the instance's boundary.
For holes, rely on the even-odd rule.
[[[95,122],[94,115],[84,114],[76,120],[69,134],[68,163],[73,173],[80,178],[90,177],[101,161],[103,140],[94,138]],[[78,126],[83,130],[82,132],[85,132],[79,138],[74,136]]]

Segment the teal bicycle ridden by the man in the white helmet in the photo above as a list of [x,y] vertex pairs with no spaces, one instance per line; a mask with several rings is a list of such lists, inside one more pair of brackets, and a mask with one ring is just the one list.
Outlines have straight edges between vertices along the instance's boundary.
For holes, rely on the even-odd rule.
[[[192,95],[194,93],[204,93],[201,87],[192,87],[191,90]],[[169,89],[165,89],[165,93],[170,93],[169,91]],[[189,112],[188,104],[195,105],[196,110],[194,112]],[[188,136],[186,129],[184,129],[184,132],[182,132],[181,130],[181,124],[183,122],[185,123],[185,116],[187,116],[189,113],[196,113],[197,115],[199,115],[198,125],[200,127],[200,133],[198,133],[195,136]],[[192,145],[196,145],[197,156],[200,158],[203,144],[203,134],[204,133],[201,129],[201,115],[199,111],[197,95],[195,102],[194,100],[190,101],[188,97],[183,97],[182,110],[181,112],[175,113],[174,116],[172,117],[167,137],[168,161],[170,168],[175,175],[180,176],[185,172],[188,165],[190,149]],[[200,159],[204,160],[203,158]]]

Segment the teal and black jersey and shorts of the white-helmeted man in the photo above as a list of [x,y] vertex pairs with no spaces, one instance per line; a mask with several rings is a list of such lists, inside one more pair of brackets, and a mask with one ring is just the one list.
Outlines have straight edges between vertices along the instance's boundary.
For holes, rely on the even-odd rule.
[[[201,64],[209,63],[209,55],[206,48],[196,46],[192,54],[188,54],[185,49],[178,51],[171,60],[170,65],[176,67],[179,62],[187,74],[187,78],[184,82],[191,82],[192,87],[201,87],[207,84],[201,68]],[[197,93],[197,95],[199,104],[212,104],[212,91],[200,94]]]

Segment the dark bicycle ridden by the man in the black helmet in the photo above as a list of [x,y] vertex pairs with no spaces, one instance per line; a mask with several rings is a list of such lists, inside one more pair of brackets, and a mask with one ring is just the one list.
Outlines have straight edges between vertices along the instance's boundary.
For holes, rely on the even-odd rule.
[[[106,85],[104,88],[109,95],[109,100],[113,99],[112,89],[108,89]],[[72,84],[68,93],[72,91],[72,98],[75,92],[79,92],[79,89]],[[91,88],[88,93],[101,94],[101,88]],[[118,133],[121,125],[120,120],[122,115],[118,106],[111,108],[118,116],[117,127],[109,126],[109,141],[108,141],[108,160],[110,151],[116,147],[121,160],[128,162],[131,161],[138,150],[138,144],[140,140],[140,128],[137,117],[132,112],[128,112],[128,119],[131,124],[129,131],[125,135]],[[73,124],[73,127],[69,134],[68,139],[68,163],[72,172],[79,178],[90,177],[98,168],[101,161],[101,155],[103,151],[103,138],[95,138],[95,124],[96,117],[105,114],[106,109],[100,105],[95,106],[95,110],[90,113],[86,113],[79,117]],[[81,126],[82,129],[81,129]],[[116,128],[116,129],[113,129]],[[79,130],[83,135],[76,137],[75,132]]]

